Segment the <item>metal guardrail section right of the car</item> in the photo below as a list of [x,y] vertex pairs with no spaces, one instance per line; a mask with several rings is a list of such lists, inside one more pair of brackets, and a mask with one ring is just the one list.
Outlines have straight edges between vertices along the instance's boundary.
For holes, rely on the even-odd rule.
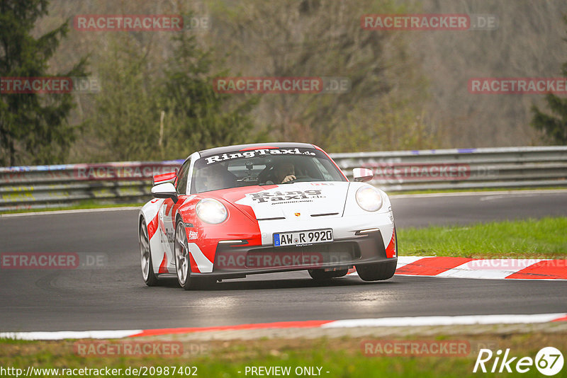
[[567,147],[504,147],[332,154],[350,173],[374,171],[386,192],[567,187]]

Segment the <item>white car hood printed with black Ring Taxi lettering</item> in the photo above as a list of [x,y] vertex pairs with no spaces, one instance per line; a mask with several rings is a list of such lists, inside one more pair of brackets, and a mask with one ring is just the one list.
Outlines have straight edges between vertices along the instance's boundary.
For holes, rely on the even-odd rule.
[[291,183],[249,187],[237,199],[223,196],[254,219],[316,219],[342,217],[349,183]]

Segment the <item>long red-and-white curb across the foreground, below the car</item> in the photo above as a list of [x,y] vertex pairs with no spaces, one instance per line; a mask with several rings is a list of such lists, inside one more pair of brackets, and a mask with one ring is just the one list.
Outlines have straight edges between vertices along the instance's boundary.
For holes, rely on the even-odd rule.
[[355,327],[410,327],[410,326],[458,326],[475,324],[527,324],[567,321],[567,314],[529,315],[466,315],[466,316],[415,316],[379,319],[280,321],[275,323],[238,324],[236,326],[131,329],[119,331],[54,331],[54,332],[3,332],[0,338],[19,340],[63,340],[79,338],[130,338],[164,336],[183,333],[218,331],[246,331],[284,328],[355,328]]

